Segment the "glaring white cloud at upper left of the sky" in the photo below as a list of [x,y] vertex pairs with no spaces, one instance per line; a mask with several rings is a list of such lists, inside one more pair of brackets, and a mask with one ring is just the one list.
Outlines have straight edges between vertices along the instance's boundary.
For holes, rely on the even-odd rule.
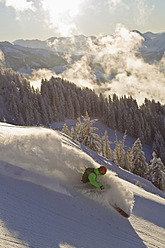
[[[43,27],[54,31],[57,35],[68,36],[77,33],[74,18],[79,14],[79,7],[85,0],[0,0],[6,7],[13,8],[17,20],[25,20],[38,14],[42,18]],[[28,12],[29,15],[25,15]],[[40,13],[40,15],[39,15]],[[35,16],[32,16],[35,19]]]

